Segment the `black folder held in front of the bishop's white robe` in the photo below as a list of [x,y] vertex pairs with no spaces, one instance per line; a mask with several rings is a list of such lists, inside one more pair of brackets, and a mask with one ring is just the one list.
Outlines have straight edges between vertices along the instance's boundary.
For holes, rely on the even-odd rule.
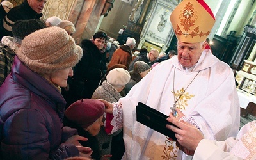
[[146,104],[139,102],[138,106],[136,106],[136,119],[138,122],[176,141],[175,132],[166,128],[166,124],[174,124],[168,122],[166,118],[168,118],[168,116],[154,108],[150,108]]

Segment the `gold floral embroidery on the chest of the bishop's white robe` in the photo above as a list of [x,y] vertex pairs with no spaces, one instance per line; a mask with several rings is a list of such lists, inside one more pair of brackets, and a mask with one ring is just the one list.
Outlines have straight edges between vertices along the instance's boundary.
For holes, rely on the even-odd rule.
[[180,91],[178,90],[177,92],[172,92],[173,96],[175,97],[175,100],[179,99],[177,101],[176,107],[177,109],[180,109],[180,110],[186,109],[186,106],[188,106],[188,100],[191,99],[192,97],[195,97],[195,95],[189,95],[188,92],[185,92],[185,93],[183,92],[184,92],[184,88],[181,88]]

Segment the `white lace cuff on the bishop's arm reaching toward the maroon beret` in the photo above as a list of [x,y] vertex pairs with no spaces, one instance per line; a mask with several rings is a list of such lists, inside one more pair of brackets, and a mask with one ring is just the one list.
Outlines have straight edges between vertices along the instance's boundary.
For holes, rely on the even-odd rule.
[[119,129],[122,129],[123,127],[123,109],[121,102],[113,103],[113,116],[114,118],[110,123],[113,126],[111,134],[118,131]]

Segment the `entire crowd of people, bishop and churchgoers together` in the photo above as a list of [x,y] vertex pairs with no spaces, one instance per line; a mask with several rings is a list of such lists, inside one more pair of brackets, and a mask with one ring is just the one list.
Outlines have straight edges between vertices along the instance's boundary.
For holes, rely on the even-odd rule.
[[[206,41],[215,18],[203,0],[170,15],[177,52],[138,56],[134,38],[103,31],[77,45],[72,22],[40,20],[45,3],[0,6],[0,159],[255,159],[256,123],[239,131],[234,74]],[[139,102],[168,115],[177,140],[138,122]]]

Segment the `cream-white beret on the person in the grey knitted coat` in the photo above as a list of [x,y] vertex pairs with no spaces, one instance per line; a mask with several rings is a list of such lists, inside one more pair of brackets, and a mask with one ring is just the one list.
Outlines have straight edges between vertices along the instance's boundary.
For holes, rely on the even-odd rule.
[[106,77],[108,83],[117,88],[125,86],[130,81],[130,78],[129,72],[123,68],[110,70]]

